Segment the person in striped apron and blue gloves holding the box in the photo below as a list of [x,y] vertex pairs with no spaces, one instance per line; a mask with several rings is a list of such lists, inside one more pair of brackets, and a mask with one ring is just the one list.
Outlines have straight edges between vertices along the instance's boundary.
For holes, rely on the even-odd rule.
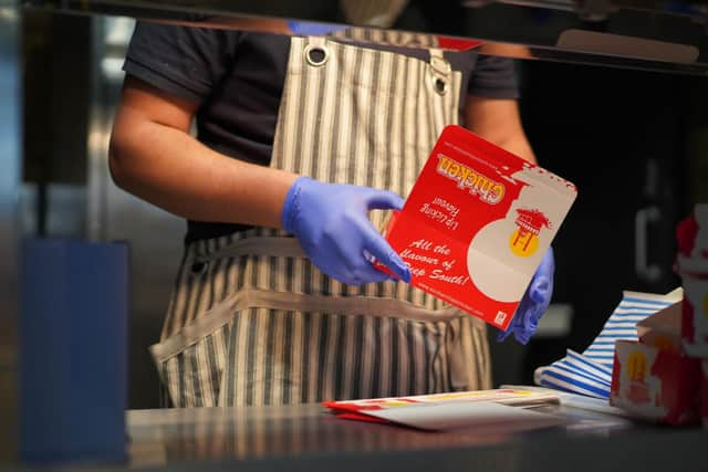
[[[150,347],[173,406],[491,387],[486,325],[406,283],[378,210],[402,208],[448,124],[535,161],[511,61],[138,22],[124,70],[113,179],[187,219]],[[544,261],[532,322],[552,292]]]

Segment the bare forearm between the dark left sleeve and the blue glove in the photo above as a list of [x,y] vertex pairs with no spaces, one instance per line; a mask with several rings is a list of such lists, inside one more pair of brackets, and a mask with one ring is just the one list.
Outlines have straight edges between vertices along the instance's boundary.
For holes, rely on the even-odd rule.
[[128,75],[111,136],[116,185],[184,218],[280,228],[298,176],[204,146],[189,135],[196,108]]

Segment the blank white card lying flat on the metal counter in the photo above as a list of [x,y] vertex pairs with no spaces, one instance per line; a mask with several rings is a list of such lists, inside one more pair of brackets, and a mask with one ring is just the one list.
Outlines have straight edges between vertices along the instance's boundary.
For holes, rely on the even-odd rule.
[[420,403],[405,408],[368,410],[366,415],[431,431],[501,427],[510,431],[548,428],[566,422],[553,415],[486,401]]

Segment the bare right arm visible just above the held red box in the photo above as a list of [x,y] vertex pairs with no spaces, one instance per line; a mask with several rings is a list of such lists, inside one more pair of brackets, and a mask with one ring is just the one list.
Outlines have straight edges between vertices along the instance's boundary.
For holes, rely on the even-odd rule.
[[516,99],[468,95],[466,114],[469,130],[537,164],[533,149],[523,132]]

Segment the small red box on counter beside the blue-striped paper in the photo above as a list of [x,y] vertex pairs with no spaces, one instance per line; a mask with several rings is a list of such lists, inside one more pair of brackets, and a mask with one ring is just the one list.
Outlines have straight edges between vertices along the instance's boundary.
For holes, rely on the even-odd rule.
[[617,340],[610,403],[633,416],[683,426],[699,421],[700,361],[674,349]]

